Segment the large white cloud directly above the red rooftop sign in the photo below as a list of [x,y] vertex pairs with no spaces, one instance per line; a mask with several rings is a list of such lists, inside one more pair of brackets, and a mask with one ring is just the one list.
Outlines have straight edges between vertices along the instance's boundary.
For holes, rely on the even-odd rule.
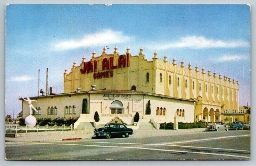
[[79,47],[93,47],[93,46],[106,46],[108,44],[124,43],[132,40],[133,37],[129,37],[123,34],[121,31],[112,31],[106,29],[93,34],[85,35],[82,39],[61,41],[53,46],[53,50],[68,50]]

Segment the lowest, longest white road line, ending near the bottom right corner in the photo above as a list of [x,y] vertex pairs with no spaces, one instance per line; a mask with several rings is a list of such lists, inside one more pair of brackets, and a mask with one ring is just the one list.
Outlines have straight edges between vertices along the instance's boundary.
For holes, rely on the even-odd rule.
[[175,152],[175,153],[192,153],[192,154],[201,154],[201,155],[219,155],[219,156],[228,156],[228,157],[239,157],[250,159],[251,157],[243,155],[228,155],[228,154],[219,154],[219,153],[207,153],[207,152],[192,152],[192,151],[183,151],[183,150],[168,150],[168,149],[157,149],[157,148],[141,148],[141,147],[123,147],[123,146],[103,146],[103,145],[81,145],[81,144],[66,144],[66,143],[29,143],[29,142],[17,142],[17,144],[40,144],[40,145],[69,145],[69,146],[88,146],[88,147],[103,147],[103,148],[127,148],[127,149],[143,149],[143,150],[155,150],[155,151],[165,151],[165,152]]

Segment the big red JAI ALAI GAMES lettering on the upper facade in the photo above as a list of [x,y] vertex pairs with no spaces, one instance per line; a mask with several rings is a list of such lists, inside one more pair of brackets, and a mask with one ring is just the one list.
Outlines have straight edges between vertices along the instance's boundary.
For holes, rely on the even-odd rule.
[[110,57],[110,61],[108,61],[107,58],[104,58],[102,60],[102,72],[97,72],[97,61],[94,61],[93,64],[91,61],[89,62],[84,62],[84,68],[80,69],[80,72],[82,74],[84,73],[90,73],[94,72],[93,78],[108,78],[108,77],[113,77],[113,69],[116,68],[121,68],[121,66],[124,67],[129,67],[130,66],[130,55],[127,54],[126,58],[125,55],[120,55],[118,58],[118,66],[114,66],[114,61],[113,57]]

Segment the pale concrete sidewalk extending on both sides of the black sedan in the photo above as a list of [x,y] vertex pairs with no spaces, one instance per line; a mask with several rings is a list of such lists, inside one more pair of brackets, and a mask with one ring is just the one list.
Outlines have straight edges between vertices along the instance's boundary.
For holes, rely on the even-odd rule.
[[[133,138],[146,138],[152,136],[172,136],[186,135],[189,133],[203,132],[204,128],[197,129],[180,129],[180,130],[133,130]],[[6,142],[38,142],[38,141],[68,141],[91,139],[94,137],[93,130],[73,130],[73,131],[47,131],[47,132],[32,132],[21,133],[15,138],[5,137]]]

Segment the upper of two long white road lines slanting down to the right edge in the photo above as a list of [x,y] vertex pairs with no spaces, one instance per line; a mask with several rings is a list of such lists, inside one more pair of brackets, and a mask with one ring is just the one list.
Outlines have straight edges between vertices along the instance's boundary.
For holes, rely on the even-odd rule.
[[[68,141],[77,142],[77,141]],[[166,144],[146,144],[146,143],[120,143],[120,142],[92,142],[92,141],[79,141],[84,143],[105,143],[105,144],[125,144],[125,145],[156,145],[156,146],[171,146],[171,147],[183,147],[183,148],[201,148],[201,149],[216,149],[216,150],[229,150],[236,152],[251,152],[250,150],[239,150],[239,149],[225,149],[225,148],[209,148],[209,147],[196,147],[196,146],[183,146],[183,145],[166,145]]]

